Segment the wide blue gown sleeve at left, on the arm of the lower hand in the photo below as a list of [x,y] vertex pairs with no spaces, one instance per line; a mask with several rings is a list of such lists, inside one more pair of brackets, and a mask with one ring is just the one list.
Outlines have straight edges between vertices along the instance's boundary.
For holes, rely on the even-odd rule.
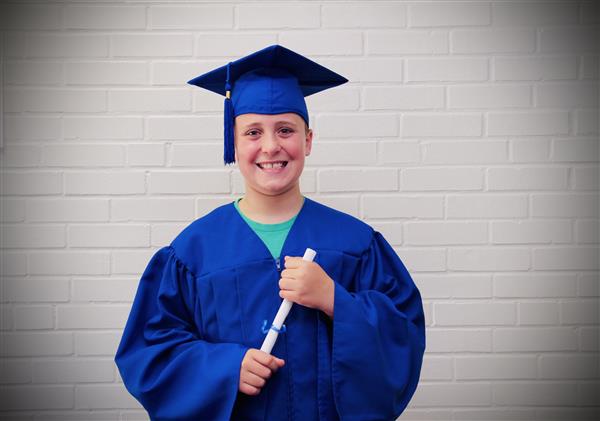
[[229,420],[233,410],[247,349],[202,339],[193,278],[171,246],[158,250],[115,355],[127,390],[152,420]]

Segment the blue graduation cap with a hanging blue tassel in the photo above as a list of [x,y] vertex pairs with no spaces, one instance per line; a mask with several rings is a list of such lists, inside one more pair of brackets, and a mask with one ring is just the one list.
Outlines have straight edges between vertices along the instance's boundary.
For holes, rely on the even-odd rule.
[[271,45],[188,81],[225,96],[226,164],[235,162],[235,117],[292,112],[308,125],[304,97],[346,82],[345,77],[281,45]]

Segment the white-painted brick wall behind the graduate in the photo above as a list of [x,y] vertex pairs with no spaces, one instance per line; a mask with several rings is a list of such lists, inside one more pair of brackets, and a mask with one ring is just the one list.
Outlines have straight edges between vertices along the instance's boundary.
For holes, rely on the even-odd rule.
[[113,363],[153,252],[239,197],[222,101],[186,85],[281,43],[301,187],[384,233],[423,296],[406,420],[597,419],[599,13],[577,1],[0,5],[0,419],[143,420]]

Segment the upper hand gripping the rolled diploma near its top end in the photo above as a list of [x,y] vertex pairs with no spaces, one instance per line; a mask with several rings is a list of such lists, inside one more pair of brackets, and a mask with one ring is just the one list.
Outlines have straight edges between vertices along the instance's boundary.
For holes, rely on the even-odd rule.
[[285,256],[279,288],[281,298],[316,308],[333,318],[335,284],[318,263]]

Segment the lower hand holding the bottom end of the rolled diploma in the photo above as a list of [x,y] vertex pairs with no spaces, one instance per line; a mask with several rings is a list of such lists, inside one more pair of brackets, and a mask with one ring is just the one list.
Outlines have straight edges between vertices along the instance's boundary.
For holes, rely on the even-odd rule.
[[285,361],[281,358],[250,348],[240,367],[240,392],[250,396],[258,395],[267,379],[284,364]]

